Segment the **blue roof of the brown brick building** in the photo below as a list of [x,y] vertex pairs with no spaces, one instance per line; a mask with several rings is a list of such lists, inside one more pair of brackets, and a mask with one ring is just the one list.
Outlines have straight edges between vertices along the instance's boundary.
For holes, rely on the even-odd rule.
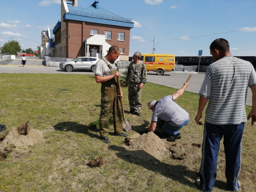
[[125,19],[105,9],[100,7],[97,9],[96,7],[98,7],[98,4],[87,8],[68,6],[69,12],[63,15],[63,21],[69,19],[133,28],[134,23],[131,19]]

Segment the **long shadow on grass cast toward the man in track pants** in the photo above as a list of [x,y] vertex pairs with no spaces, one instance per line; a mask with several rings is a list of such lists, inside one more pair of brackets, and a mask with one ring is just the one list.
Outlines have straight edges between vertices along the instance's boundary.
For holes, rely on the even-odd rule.
[[[149,155],[147,152],[143,150],[129,151],[123,147],[111,145],[108,149],[117,151],[116,156],[123,159],[126,162],[137,164],[145,169],[150,171],[158,172],[164,177],[170,178],[173,181],[178,181],[181,184],[188,185],[190,187],[196,187],[196,178],[198,177],[198,172],[188,170],[188,168],[184,165],[172,165],[163,162],[159,162],[154,156]],[[147,159],[138,159],[135,157],[148,157]],[[154,165],[154,162],[158,162],[157,165]],[[191,182],[189,179],[193,180]],[[228,190],[227,184],[223,181],[216,180],[215,186],[222,190]],[[199,189],[199,187],[197,187]]]

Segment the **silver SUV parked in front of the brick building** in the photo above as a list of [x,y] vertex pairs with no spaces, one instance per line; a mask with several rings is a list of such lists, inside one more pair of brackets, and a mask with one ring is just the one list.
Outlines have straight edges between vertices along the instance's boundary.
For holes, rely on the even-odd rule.
[[79,57],[71,61],[65,61],[60,63],[60,69],[64,69],[68,72],[73,70],[91,70],[95,72],[95,64],[99,60],[97,57]]

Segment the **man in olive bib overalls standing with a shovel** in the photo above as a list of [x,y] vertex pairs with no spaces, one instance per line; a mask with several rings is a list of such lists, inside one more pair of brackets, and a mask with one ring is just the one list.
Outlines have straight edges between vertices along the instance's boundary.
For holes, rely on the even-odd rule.
[[108,54],[97,61],[95,65],[95,79],[97,83],[101,83],[101,110],[100,110],[100,136],[101,140],[109,144],[108,140],[108,120],[113,110],[114,118],[114,135],[127,137],[123,133],[123,117],[121,112],[120,98],[123,97],[123,92],[119,91],[116,77],[121,74],[118,72],[118,65],[115,60],[120,55],[120,49],[116,45],[109,48]]

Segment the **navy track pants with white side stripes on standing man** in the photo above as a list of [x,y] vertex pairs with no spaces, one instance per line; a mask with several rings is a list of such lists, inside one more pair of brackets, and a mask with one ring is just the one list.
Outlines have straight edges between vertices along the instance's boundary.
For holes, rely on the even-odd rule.
[[244,123],[215,125],[204,123],[204,140],[202,146],[202,161],[199,171],[200,188],[212,191],[217,176],[217,158],[220,140],[224,137],[226,156],[226,179],[231,191],[238,191],[240,172],[240,157]]

